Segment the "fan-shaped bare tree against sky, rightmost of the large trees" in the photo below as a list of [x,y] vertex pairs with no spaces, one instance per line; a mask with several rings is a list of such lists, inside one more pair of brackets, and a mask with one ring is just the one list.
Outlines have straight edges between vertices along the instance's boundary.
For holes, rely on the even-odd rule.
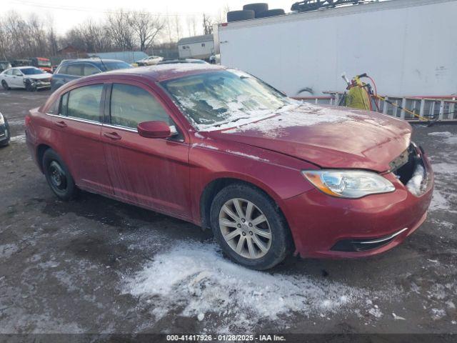
[[132,11],[129,24],[139,42],[141,51],[151,48],[165,26],[165,22],[160,16],[153,16],[145,11]]

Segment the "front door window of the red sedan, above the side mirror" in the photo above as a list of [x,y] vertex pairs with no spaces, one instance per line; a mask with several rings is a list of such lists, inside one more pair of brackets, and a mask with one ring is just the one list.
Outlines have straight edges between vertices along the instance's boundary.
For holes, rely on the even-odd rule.
[[143,121],[173,124],[164,107],[148,91],[129,84],[113,84],[111,124],[136,129]]

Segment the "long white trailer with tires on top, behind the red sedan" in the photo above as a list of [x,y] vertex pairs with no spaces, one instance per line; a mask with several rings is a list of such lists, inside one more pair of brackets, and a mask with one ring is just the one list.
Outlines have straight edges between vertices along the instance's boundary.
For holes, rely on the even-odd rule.
[[[379,94],[457,94],[457,1],[392,0],[220,24],[221,64],[289,96],[343,91],[368,73]],[[306,96],[310,94],[302,93]]]

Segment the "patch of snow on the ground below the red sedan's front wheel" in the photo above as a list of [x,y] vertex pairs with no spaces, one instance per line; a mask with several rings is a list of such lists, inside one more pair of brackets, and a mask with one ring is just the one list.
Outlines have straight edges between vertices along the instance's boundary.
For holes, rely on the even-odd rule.
[[199,318],[209,312],[225,317],[225,324],[241,326],[291,312],[306,316],[336,312],[368,294],[303,275],[245,269],[224,259],[216,244],[200,243],[181,243],[157,254],[126,283],[124,291],[154,302],[156,316],[176,309]]

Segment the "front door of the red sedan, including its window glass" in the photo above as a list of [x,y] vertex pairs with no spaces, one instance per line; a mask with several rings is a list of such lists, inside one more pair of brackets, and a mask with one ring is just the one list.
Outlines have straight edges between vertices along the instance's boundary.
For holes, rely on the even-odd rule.
[[189,144],[184,136],[148,139],[136,130],[143,121],[175,125],[169,109],[149,86],[136,81],[114,82],[106,101],[110,110],[101,139],[116,197],[189,218]]

